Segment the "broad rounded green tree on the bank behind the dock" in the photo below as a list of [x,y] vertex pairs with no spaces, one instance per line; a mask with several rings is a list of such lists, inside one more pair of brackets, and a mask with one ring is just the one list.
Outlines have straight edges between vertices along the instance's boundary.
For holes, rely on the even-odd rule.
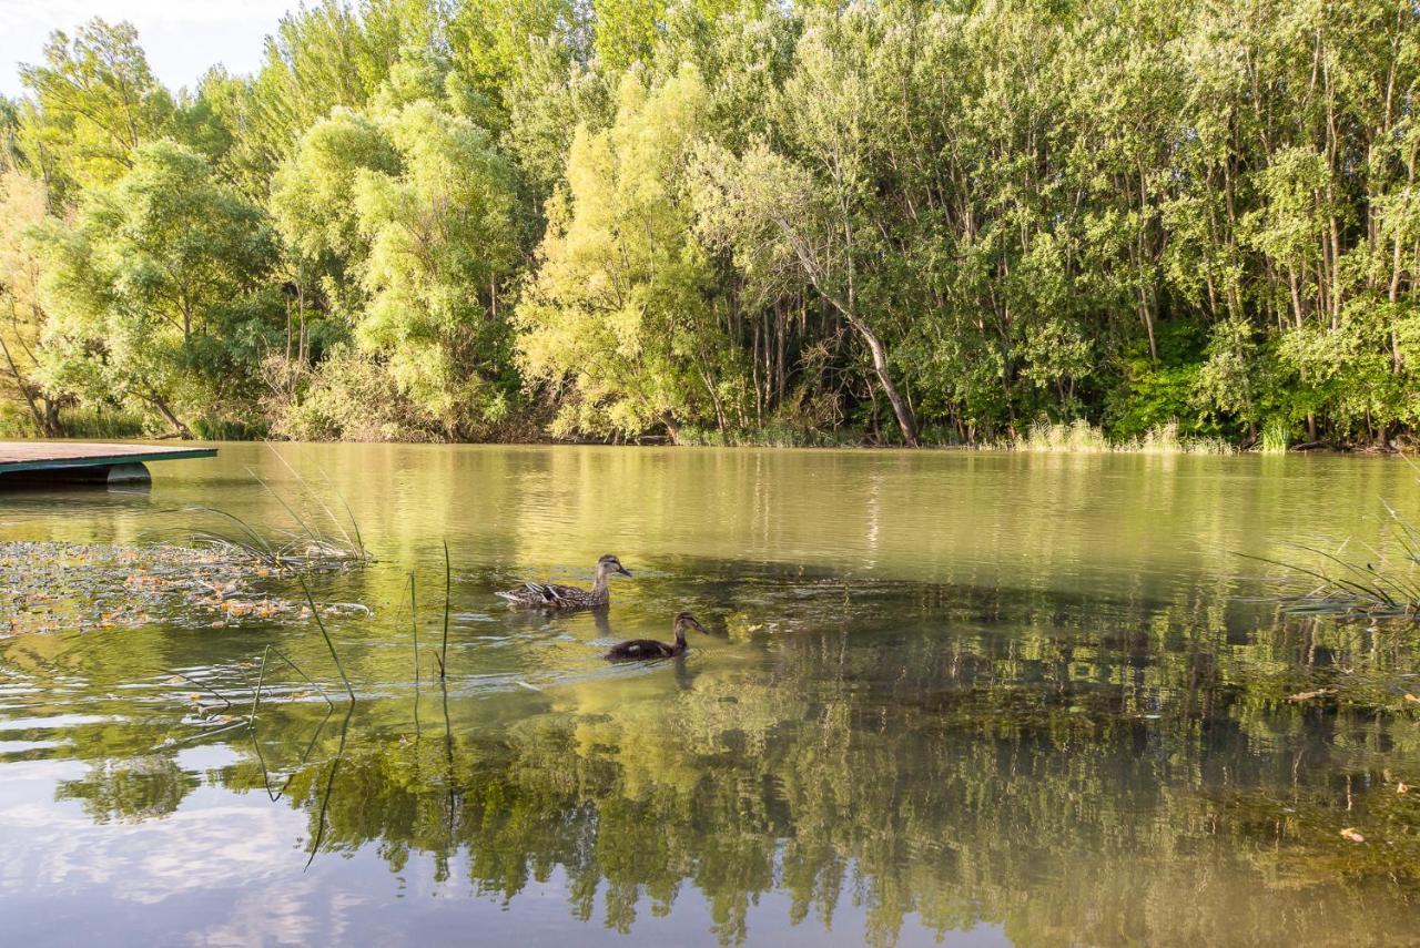
[[192,419],[251,403],[273,341],[275,241],[206,159],[143,145],[112,187],[87,193],[72,228],[43,240],[48,387],[156,413],[185,437]]

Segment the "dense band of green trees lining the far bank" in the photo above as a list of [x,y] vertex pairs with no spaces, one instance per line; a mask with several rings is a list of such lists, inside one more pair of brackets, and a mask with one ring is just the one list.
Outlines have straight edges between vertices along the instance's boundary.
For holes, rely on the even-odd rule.
[[102,21],[23,78],[33,430],[1420,427],[1410,3],[327,0],[196,92]]

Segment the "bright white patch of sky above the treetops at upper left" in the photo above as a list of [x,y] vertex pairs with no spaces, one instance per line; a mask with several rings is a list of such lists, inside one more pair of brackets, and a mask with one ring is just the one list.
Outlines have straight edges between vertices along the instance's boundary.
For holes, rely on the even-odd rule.
[[0,0],[0,94],[18,95],[20,62],[41,62],[54,30],[72,33],[92,17],[128,20],[148,64],[168,88],[189,89],[216,62],[253,72],[261,45],[300,0]]

